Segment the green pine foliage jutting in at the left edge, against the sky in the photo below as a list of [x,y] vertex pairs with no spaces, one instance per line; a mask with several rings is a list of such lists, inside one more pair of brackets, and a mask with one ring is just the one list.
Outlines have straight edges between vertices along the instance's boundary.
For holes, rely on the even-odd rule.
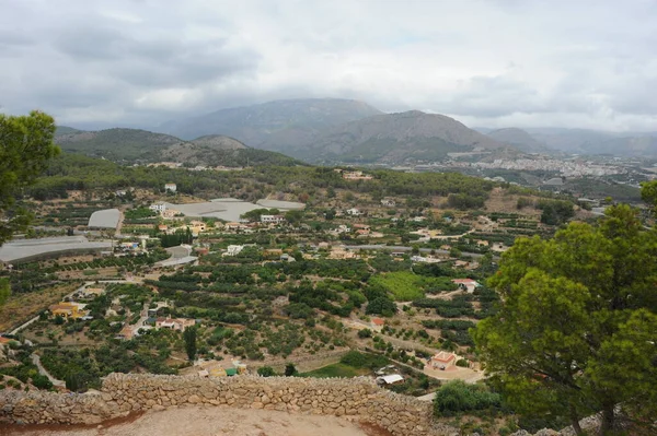
[[54,135],[55,120],[46,114],[0,114],[0,245],[30,223],[31,214],[16,208],[15,198],[36,181],[59,153],[53,144]]

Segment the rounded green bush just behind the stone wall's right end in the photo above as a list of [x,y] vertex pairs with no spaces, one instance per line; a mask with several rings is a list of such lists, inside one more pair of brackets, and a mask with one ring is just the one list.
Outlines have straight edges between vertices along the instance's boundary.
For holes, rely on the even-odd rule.
[[460,412],[498,408],[498,393],[491,392],[485,387],[466,385],[462,380],[453,380],[442,386],[434,399],[436,416],[451,416]]

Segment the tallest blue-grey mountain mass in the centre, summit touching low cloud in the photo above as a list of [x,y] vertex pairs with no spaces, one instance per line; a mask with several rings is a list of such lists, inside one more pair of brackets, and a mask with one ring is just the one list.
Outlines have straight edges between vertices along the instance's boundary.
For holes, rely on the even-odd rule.
[[337,98],[277,101],[170,121],[157,130],[181,138],[221,133],[313,163],[433,162],[447,153],[510,150],[461,122],[411,110],[384,114]]

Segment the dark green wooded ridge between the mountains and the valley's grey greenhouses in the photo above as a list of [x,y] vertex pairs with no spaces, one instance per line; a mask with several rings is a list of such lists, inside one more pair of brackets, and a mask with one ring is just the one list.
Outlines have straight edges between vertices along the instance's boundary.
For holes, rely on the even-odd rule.
[[[253,156],[261,152],[268,153],[253,149],[245,152],[253,153]],[[274,191],[312,195],[316,189],[331,187],[334,190],[348,188],[355,192],[370,192],[380,198],[390,195],[423,198],[452,193],[483,204],[495,186],[493,181],[458,173],[376,170],[372,175],[372,180],[354,182],[345,180],[332,168],[273,165],[255,166],[242,172],[192,172],[184,168],[122,166],[110,161],[64,153],[28,193],[46,199],[65,196],[66,190],[71,189],[131,187],[161,190],[164,184],[175,182],[177,191],[184,193],[211,191],[264,198]],[[227,187],[233,186],[240,186],[240,191],[227,192]]]

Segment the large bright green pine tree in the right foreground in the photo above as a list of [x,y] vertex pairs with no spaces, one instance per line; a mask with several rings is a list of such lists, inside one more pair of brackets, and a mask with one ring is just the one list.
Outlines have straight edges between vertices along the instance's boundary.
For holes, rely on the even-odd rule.
[[[520,238],[489,280],[499,311],[472,330],[481,360],[521,413],[578,420],[657,408],[657,232],[611,207],[597,226]],[[650,339],[652,337],[652,339]],[[648,421],[652,422],[652,421]]]

